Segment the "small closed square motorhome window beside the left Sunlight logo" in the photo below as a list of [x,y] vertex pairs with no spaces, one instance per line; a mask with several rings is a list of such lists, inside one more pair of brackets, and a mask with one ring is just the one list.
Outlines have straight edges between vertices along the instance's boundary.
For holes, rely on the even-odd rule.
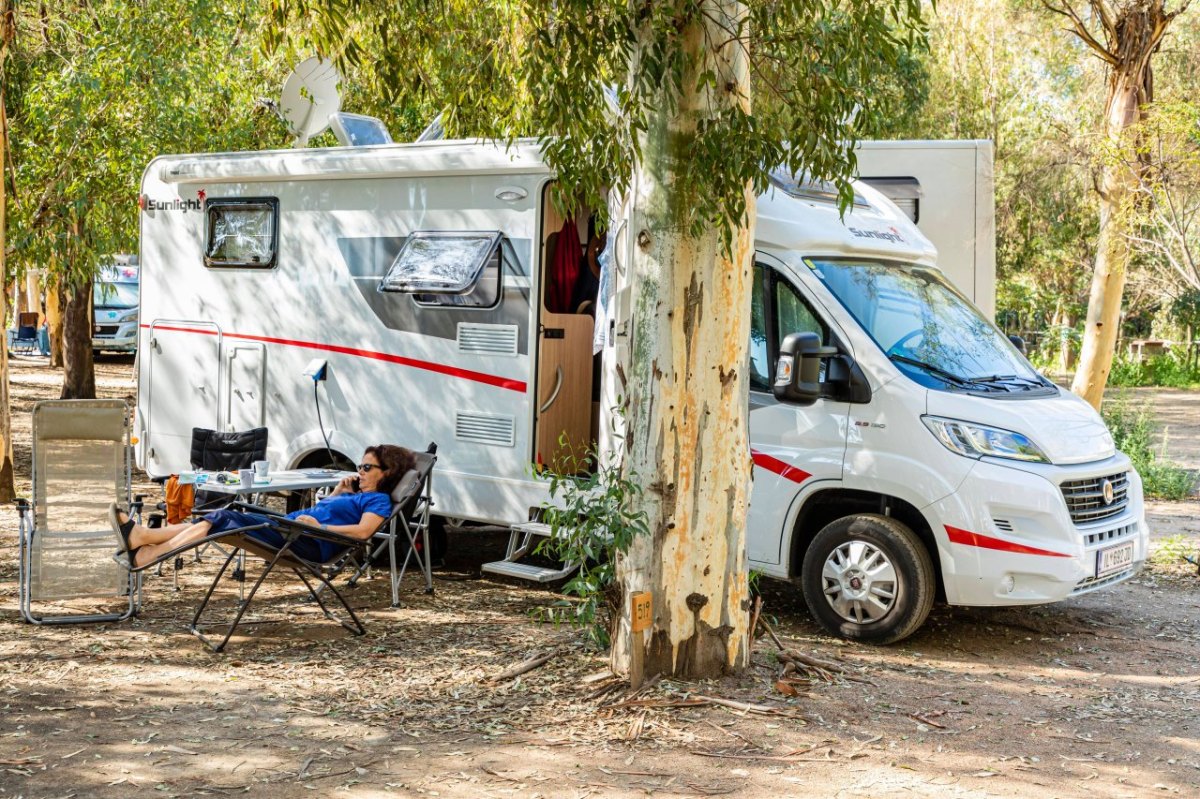
[[278,245],[280,202],[274,197],[220,198],[205,204],[204,265],[271,269]]

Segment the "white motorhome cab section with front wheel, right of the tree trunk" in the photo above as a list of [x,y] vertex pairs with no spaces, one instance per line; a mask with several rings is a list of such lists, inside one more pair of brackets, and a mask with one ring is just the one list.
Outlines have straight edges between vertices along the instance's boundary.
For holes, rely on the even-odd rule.
[[[751,317],[751,566],[877,642],[911,633],[935,594],[1052,602],[1132,577],[1141,481],[1092,407],[1038,374],[871,188],[840,223],[810,187],[774,182]],[[805,353],[821,364],[808,396],[773,383],[780,355],[800,379]]]

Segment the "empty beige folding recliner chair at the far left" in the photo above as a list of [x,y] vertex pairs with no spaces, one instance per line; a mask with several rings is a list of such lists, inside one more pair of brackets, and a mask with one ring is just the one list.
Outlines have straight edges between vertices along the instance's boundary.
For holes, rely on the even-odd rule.
[[[120,621],[137,612],[140,581],[113,560],[121,543],[108,523],[109,504],[130,500],[128,438],[120,400],[50,400],[34,407],[32,498],[17,500],[19,606],[30,624]],[[35,608],[107,597],[120,599],[120,609],[50,614]]]

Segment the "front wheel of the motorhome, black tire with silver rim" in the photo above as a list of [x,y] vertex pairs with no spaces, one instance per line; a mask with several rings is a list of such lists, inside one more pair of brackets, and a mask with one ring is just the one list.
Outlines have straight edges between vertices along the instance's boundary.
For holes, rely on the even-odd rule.
[[[827,577],[827,563],[830,573],[844,570],[838,578]],[[881,571],[884,564],[890,571]],[[830,633],[889,644],[924,624],[937,577],[916,533],[888,516],[859,513],[826,525],[812,539],[800,567],[800,588],[809,611]]]

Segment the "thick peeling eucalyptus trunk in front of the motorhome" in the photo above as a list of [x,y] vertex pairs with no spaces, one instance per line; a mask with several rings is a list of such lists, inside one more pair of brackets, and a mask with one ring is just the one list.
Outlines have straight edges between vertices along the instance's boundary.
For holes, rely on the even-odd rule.
[[[694,56],[678,104],[664,94],[658,119],[642,134],[642,162],[628,211],[630,342],[620,364],[625,398],[626,474],[646,486],[649,536],[618,555],[622,618],[612,667],[629,669],[643,645],[644,674],[707,678],[749,660],[745,522],[750,491],[749,341],[754,192],[722,242],[716,229],[700,238],[683,222],[689,198],[677,182],[680,164],[706,115],[749,106],[746,50],[731,41],[744,14],[738,2],[709,0],[703,17],[685,20]],[[706,29],[707,26],[707,29]],[[712,49],[714,43],[724,43]],[[640,42],[646,52],[652,42]],[[698,91],[704,70],[716,89]],[[715,164],[714,164],[715,168]],[[653,626],[631,635],[629,596],[653,595]],[[643,644],[637,642],[644,641]]]

